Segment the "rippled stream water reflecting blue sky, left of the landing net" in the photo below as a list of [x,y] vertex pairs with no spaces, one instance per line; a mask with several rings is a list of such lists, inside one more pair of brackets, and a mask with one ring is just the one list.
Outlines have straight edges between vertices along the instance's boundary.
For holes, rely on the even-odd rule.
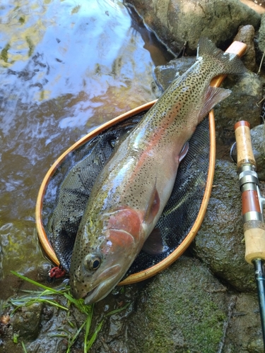
[[1,0],[2,285],[9,270],[43,261],[34,214],[49,166],[95,126],[155,99],[152,70],[167,59],[122,2]]

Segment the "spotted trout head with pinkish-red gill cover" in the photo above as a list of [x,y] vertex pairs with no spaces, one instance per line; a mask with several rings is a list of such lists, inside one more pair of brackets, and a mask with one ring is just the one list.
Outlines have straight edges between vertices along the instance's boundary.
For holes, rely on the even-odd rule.
[[129,208],[105,213],[100,222],[80,227],[71,257],[73,297],[83,298],[85,304],[105,298],[141,250],[141,233],[139,213]]

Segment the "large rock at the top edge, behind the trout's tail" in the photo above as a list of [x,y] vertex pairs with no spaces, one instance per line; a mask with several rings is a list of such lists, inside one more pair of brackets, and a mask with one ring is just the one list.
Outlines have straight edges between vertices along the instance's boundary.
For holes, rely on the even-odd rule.
[[240,25],[257,30],[261,16],[238,0],[127,0],[173,52],[185,41],[187,53],[194,54],[199,37],[208,37],[218,46],[232,40]]

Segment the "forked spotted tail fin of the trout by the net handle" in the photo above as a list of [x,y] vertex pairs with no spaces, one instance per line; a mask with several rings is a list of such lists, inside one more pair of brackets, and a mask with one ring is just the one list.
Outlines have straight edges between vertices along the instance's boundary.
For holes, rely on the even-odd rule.
[[218,49],[211,40],[202,37],[198,43],[197,59],[208,56],[216,60],[218,66],[223,68],[219,73],[244,73],[246,71],[237,54],[225,53]]

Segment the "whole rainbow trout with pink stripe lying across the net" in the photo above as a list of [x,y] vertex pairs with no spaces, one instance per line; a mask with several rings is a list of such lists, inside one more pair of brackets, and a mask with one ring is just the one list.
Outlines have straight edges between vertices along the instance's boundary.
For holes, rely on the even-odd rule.
[[194,65],[173,80],[114,150],[95,181],[76,235],[73,297],[94,303],[122,279],[170,198],[187,141],[213,106],[230,95],[211,87],[211,79],[244,71],[235,54],[199,40]]

